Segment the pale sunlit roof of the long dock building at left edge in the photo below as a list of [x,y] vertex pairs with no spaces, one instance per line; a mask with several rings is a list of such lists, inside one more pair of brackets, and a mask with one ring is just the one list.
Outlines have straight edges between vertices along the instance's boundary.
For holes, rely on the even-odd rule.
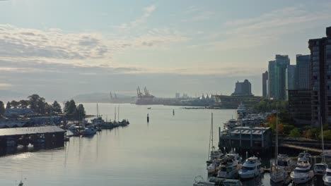
[[13,135],[35,135],[35,134],[57,133],[57,132],[66,132],[66,131],[54,125],[33,127],[33,128],[2,128],[0,129],[0,137],[13,136]]

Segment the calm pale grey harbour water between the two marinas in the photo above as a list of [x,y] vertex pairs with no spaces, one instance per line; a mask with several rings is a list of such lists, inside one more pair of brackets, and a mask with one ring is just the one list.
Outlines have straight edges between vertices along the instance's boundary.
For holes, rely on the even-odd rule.
[[[95,114],[96,104],[84,104]],[[99,104],[103,118],[114,117],[111,104]],[[234,110],[194,110],[175,106],[120,105],[127,128],[103,130],[94,137],[71,137],[63,148],[0,157],[0,185],[192,185],[195,175],[206,178],[211,112],[217,127],[235,116]],[[173,116],[175,109],[175,116]],[[150,122],[146,123],[149,113]],[[216,140],[217,141],[217,140]],[[269,175],[245,185],[269,185]]]

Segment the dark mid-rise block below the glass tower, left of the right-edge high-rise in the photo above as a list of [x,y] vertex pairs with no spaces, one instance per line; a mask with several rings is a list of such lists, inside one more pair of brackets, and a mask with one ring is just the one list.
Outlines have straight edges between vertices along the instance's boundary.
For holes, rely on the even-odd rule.
[[296,125],[311,123],[311,90],[289,89],[289,114]]

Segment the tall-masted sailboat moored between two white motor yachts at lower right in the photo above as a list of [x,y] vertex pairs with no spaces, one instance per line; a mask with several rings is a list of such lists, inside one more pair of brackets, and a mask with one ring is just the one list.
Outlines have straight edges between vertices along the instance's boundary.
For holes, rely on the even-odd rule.
[[284,168],[278,167],[278,112],[276,113],[276,145],[274,149],[274,167],[270,174],[272,182],[284,182],[287,177],[287,173]]

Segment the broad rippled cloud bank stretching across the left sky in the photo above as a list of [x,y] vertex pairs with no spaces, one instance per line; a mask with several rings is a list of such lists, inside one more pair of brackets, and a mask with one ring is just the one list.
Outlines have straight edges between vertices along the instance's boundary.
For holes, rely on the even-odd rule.
[[[146,9],[151,13],[153,7]],[[146,14],[148,15],[148,14]],[[96,32],[66,33],[63,30],[36,30],[0,25],[0,60],[74,63],[98,66],[125,49],[155,47],[187,40],[176,30],[151,29],[143,35],[103,35]],[[92,63],[91,63],[92,61]]]

